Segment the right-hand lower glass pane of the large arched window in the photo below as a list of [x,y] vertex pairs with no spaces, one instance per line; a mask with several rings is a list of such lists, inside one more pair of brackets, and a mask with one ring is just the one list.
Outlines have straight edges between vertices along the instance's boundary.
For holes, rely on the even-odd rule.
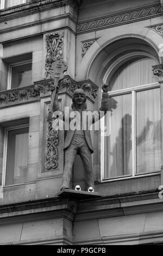
[[155,88],[136,93],[136,173],[160,168],[160,88]]

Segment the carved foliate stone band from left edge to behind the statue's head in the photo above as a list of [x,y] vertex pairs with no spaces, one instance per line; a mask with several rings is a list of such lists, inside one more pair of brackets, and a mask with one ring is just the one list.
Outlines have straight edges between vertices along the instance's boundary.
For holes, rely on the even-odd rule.
[[[0,92],[0,108],[39,101],[41,96],[50,96],[53,82],[51,78],[34,82],[32,86],[2,91]],[[95,102],[98,86],[91,80],[76,82],[67,75],[60,81],[59,94],[67,93],[72,96],[73,91],[77,88],[83,88],[86,92],[87,99]]]

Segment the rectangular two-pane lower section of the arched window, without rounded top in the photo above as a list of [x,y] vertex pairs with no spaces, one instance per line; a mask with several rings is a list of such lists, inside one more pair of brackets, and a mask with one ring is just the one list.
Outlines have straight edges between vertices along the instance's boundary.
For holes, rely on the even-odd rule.
[[102,178],[115,179],[160,171],[159,85],[109,92],[109,99],[110,102],[116,101],[117,106],[111,108],[109,134],[101,137]]

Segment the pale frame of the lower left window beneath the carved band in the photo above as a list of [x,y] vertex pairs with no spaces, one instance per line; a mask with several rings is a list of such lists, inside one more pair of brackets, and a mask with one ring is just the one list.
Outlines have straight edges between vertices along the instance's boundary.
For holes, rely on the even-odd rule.
[[[6,168],[7,168],[7,150],[8,150],[8,132],[12,130],[18,130],[23,128],[29,128],[29,124],[22,124],[22,125],[15,125],[6,127],[4,129],[4,146],[3,146],[3,167],[2,167],[2,187],[8,187],[8,186],[17,186],[20,184],[11,184],[11,185],[5,185],[5,179],[6,179]],[[27,156],[28,157],[28,156]],[[21,184],[24,184],[21,183]]]

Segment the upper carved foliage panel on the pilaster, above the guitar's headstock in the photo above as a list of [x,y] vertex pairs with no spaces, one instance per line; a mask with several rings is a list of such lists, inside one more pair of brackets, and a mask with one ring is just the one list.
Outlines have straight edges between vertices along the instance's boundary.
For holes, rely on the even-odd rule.
[[46,64],[45,64],[45,79],[51,78],[52,76],[52,63],[56,60],[62,60],[63,56],[63,41],[64,34],[55,32],[51,34],[47,34],[45,36],[46,39]]

